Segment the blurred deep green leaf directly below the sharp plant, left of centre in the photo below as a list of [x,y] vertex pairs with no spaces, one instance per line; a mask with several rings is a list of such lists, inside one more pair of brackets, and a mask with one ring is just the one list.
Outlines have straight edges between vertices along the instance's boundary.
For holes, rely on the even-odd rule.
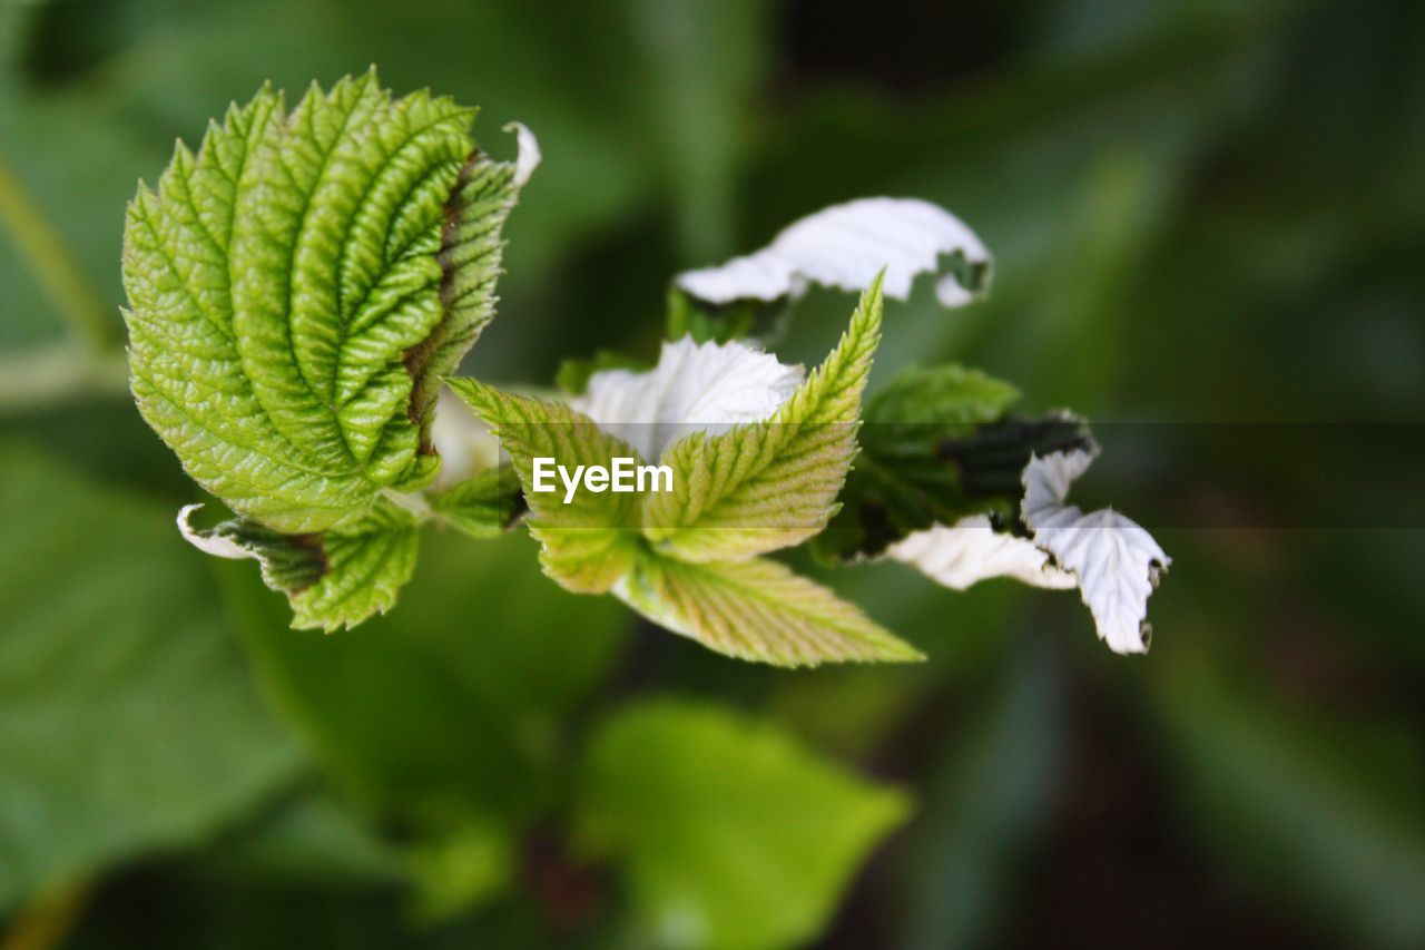
[[523,819],[553,793],[560,722],[608,670],[627,615],[550,585],[524,532],[422,541],[402,608],[349,636],[289,629],[256,572],[215,563],[266,696],[358,800],[426,827]]

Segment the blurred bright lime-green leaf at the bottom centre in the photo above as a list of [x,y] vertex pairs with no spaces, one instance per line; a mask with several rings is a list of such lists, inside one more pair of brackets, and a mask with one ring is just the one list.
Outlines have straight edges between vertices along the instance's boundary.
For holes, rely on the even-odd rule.
[[683,702],[631,706],[594,733],[579,829],[621,862],[637,926],[664,947],[804,944],[906,797],[792,736]]

